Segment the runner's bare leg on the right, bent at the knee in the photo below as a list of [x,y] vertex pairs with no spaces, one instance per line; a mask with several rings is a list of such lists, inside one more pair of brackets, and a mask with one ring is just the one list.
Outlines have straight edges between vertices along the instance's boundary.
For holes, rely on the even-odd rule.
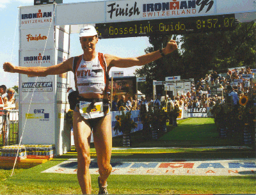
[[93,142],[97,153],[100,183],[106,185],[108,176],[112,171],[110,164],[112,150],[111,114],[104,116],[93,130]]

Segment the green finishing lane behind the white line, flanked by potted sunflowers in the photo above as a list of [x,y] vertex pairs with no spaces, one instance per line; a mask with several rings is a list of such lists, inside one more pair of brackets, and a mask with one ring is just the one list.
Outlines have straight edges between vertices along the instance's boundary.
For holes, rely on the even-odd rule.
[[[152,140],[150,131],[140,130],[131,134],[131,146],[141,147],[194,147],[194,146],[243,146],[235,139],[220,139],[213,118],[188,118],[178,120],[178,127],[167,123],[167,133],[159,132],[159,139]],[[122,136],[113,137],[113,147],[122,147]],[[93,144],[91,144],[93,147]]]

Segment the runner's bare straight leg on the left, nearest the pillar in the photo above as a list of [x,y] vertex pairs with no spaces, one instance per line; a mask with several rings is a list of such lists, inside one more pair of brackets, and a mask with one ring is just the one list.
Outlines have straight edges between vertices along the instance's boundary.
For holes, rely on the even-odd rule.
[[91,194],[90,139],[91,128],[76,110],[73,115],[74,141],[77,150],[77,179],[83,194]]

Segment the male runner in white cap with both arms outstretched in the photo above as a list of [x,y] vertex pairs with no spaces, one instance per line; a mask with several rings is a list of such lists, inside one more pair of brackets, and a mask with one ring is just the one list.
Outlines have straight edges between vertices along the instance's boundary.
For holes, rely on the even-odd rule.
[[[83,55],[78,61],[74,57],[67,59],[63,63],[49,67],[22,67],[13,66],[11,63],[4,63],[4,71],[17,72],[19,74],[35,75],[44,77],[46,75],[58,75],[68,71],[75,74],[76,88],[79,96],[85,102],[100,102],[104,97],[106,87],[106,72],[115,66],[118,68],[129,68],[131,66],[142,66],[161,58],[177,49],[174,40],[170,40],[167,46],[160,51],[151,52],[137,58],[120,58],[110,54],[100,54],[95,51],[99,41],[95,27],[84,26],[80,33],[80,43]],[[75,65],[73,66],[75,61]],[[106,64],[106,66],[104,66]],[[73,67],[74,70],[73,70]],[[104,72],[104,70],[106,70]],[[84,103],[86,104],[86,103]],[[80,106],[80,107],[79,107]],[[97,163],[99,166],[99,194],[108,194],[107,178],[111,173],[110,164],[112,149],[111,115],[108,111],[94,114],[81,113],[81,103],[77,104],[73,116],[74,141],[77,150],[77,178],[83,194],[91,194],[90,166],[90,139],[93,129],[93,139],[97,153]],[[87,114],[87,115],[86,115]]]

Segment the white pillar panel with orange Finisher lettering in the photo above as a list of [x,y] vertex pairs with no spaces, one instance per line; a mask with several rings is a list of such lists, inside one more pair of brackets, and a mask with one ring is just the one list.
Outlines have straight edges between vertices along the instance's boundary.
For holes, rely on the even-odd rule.
[[49,49],[54,47],[54,27],[21,29],[20,49]]

